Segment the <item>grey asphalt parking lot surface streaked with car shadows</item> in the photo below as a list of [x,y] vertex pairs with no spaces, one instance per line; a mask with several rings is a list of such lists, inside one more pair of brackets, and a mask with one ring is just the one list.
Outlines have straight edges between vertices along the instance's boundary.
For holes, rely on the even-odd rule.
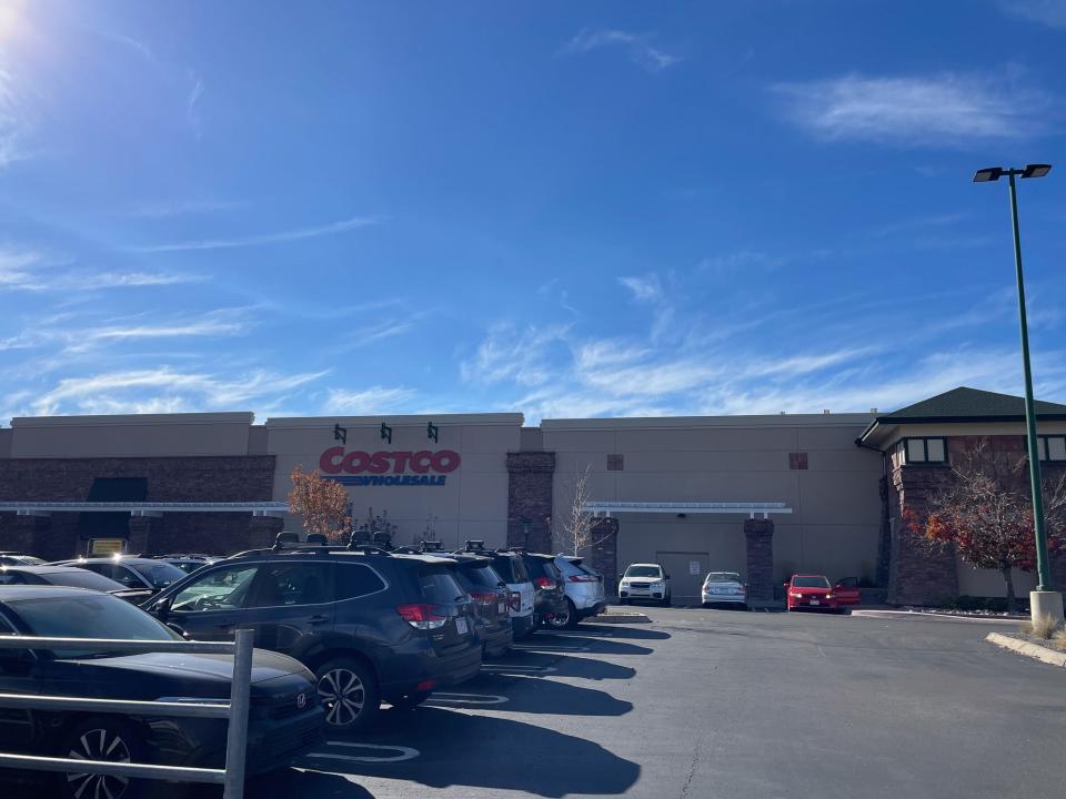
[[[652,608],[539,633],[251,797],[1062,793],[1066,675],[1002,627]],[[375,759],[378,759],[375,761]]]

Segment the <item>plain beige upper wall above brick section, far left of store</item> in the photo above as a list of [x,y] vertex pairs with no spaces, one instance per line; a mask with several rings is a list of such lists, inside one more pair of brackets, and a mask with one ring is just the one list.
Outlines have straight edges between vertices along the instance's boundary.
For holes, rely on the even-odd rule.
[[11,421],[12,458],[247,455],[250,413],[39,416]]

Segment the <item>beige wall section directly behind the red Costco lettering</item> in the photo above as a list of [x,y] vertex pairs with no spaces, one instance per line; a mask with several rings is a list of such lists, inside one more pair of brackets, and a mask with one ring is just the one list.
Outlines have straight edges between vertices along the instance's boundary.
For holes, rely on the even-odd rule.
[[[381,438],[382,422],[392,427],[392,444]],[[429,422],[438,426],[439,442],[429,439]],[[296,464],[304,471],[316,469],[325,449],[341,446],[333,439],[334,423],[348,429],[345,452],[452,449],[462,458],[459,468],[446,474],[445,484],[440,486],[349,486],[356,520],[364,519],[370,508],[374,515],[388,512],[389,520],[399,526],[396,544],[421,539],[429,524],[445,546],[459,545],[466,538],[505,546],[506,454],[519,449],[521,414],[268,419],[266,451],[278,457],[275,500],[285,500]],[[403,474],[414,473],[408,468]],[[289,518],[285,527],[299,529],[299,520]]]

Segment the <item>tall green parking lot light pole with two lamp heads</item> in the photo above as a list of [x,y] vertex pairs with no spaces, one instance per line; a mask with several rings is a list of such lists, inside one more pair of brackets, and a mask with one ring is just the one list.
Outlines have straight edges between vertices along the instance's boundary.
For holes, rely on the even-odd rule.
[[[1047,523],[1044,516],[1044,492],[1040,483],[1040,454],[1036,438],[1036,412],[1033,407],[1033,368],[1029,365],[1029,325],[1025,311],[1025,280],[1022,272],[1022,231],[1018,225],[1017,178],[1043,178],[1052,171],[1050,164],[1028,164],[1023,169],[990,166],[974,175],[974,183],[989,183],[1007,176],[1010,193],[1010,222],[1014,226],[1014,267],[1018,283],[1018,322],[1022,327],[1022,366],[1025,373],[1025,432],[1029,453],[1029,488],[1033,495],[1033,532],[1036,538],[1036,590],[1030,595],[1034,620],[1050,615],[1063,619],[1063,598],[1052,588],[1052,572],[1047,552]],[[1040,597],[1037,595],[1046,595]]]

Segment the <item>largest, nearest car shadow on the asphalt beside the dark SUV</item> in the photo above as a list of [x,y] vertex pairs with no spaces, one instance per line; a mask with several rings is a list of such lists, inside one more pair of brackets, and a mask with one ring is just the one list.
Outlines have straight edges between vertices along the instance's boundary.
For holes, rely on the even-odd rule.
[[[389,716],[383,714],[373,742],[412,747],[420,750],[419,757],[388,763],[308,758],[301,767],[406,780],[433,788],[469,786],[543,797],[624,793],[641,773],[635,762],[599,744],[509,718],[430,707],[409,714],[406,722],[400,715],[394,721]],[[280,795],[278,790],[272,792]],[[410,796],[421,793],[411,789]]]

